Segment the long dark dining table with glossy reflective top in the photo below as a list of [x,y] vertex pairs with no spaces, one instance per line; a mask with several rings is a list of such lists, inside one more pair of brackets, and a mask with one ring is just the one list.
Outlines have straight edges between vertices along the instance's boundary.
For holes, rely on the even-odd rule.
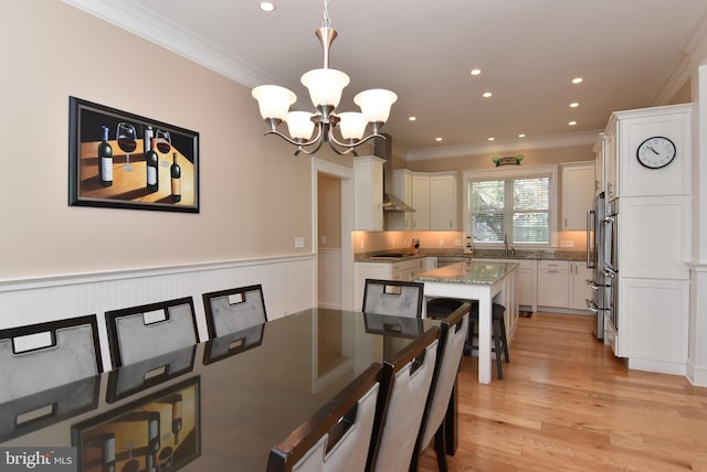
[[75,465],[56,470],[264,471],[354,378],[440,323],[307,309],[0,404],[0,450]]

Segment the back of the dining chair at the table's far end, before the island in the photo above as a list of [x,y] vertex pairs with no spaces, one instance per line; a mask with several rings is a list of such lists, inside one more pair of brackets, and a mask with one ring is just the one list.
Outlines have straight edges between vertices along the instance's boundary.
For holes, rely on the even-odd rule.
[[366,279],[363,312],[422,318],[424,283]]

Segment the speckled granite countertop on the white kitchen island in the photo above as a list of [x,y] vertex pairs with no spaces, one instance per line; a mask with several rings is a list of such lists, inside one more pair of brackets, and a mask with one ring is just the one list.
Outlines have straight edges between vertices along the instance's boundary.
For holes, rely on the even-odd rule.
[[518,267],[515,262],[457,262],[441,269],[423,272],[416,282],[450,282],[492,286]]

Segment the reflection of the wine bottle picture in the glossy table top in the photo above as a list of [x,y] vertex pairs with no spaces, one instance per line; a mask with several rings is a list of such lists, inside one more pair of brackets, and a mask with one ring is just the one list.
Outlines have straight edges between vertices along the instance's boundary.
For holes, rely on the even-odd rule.
[[[200,457],[200,380],[199,376],[191,377],[72,426],[77,470],[133,470],[131,465],[149,470],[151,461],[154,470],[176,471]],[[173,429],[176,411],[180,415],[179,430]]]

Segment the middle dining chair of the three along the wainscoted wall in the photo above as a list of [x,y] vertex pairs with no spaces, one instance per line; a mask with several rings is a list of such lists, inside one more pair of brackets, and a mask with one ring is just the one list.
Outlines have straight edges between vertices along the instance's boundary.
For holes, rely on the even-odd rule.
[[199,342],[191,297],[107,311],[106,325],[114,368]]

